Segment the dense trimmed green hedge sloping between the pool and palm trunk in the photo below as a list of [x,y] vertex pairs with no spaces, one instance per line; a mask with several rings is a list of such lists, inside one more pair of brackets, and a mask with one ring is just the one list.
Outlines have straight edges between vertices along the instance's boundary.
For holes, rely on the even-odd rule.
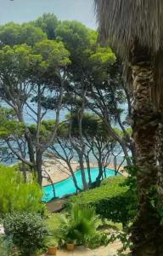
[[128,187],[122,184],[125,180],[125,177],[106,178],[100,187],[73,196],[70,202],[95,207],[101,218],[125,225],[133,218],[129,208],[134,204],[128,196]]

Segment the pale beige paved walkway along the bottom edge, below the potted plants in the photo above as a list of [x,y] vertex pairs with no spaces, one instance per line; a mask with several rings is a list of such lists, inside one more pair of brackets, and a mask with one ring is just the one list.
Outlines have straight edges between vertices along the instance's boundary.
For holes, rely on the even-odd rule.
[[[121,248],[121,242],[114,242],[107,247],[98,247],[94,250],[86,247],[76,247],[74,252],[59,250],[56,256],[117,256],[117,250],[119,248]],[[48,254],[42,256],[48,256]]]

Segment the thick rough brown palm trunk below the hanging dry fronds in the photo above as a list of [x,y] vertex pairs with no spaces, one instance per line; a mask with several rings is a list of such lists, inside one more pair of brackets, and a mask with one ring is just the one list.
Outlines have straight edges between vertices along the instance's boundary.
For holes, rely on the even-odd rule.
[[[132,225],[132,255],[161,256],[157,234],[160,232],[160,219],[150,196],[157,184],[156,133],[157,113],[151,102],[151,87],[154,73],[151,56],[135,42],[132,49],[132,105],[133,139],[136,147],[136,165],[138,166],[138,215]],[[162,247],[162,245],[161,245]],[[160,253],[161,251],[161,253]]]

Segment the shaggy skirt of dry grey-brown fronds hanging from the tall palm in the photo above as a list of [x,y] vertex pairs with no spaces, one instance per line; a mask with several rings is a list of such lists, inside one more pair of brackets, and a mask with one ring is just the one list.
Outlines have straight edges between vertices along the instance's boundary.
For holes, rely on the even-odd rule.
[[[127,58],[132,38],[155,56],[157,97],[163,102],[163,0],[94,0],[99,38],[110,40],[116,53]],[[160,102],[160,99],[157,99]]]

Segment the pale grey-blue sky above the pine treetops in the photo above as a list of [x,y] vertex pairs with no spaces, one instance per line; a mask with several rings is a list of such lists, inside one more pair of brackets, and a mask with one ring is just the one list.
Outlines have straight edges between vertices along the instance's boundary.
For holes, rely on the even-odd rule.
[[43,13],[53,13],[59,20],[79,20],[96,28],[93,0],[0,0],[0,24],[35,20]]

